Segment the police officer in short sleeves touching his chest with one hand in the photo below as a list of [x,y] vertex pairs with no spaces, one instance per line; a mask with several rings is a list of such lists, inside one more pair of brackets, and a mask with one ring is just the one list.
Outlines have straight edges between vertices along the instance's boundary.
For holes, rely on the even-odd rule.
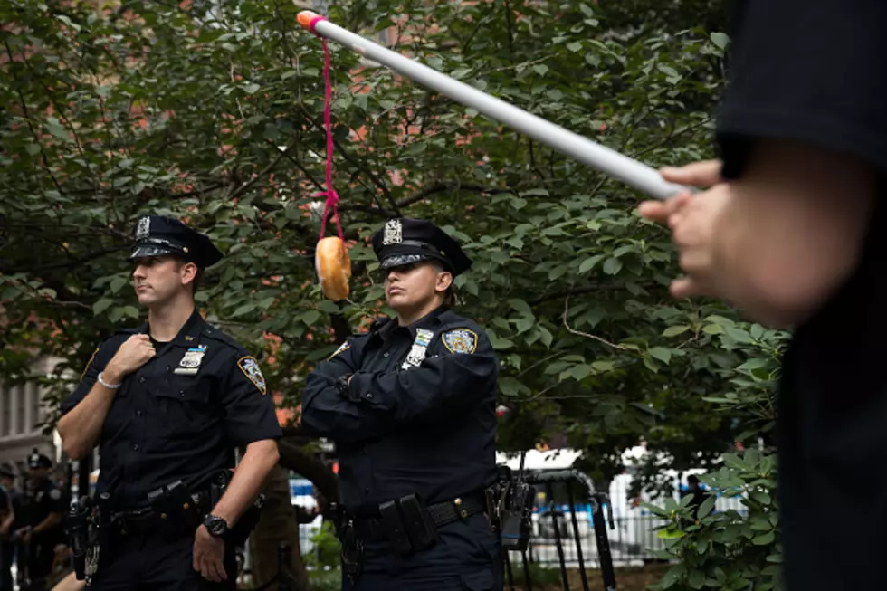
[[[199,273],[222,253],[157,215],[139,220],[135,238],[129,258],[148,324],[102,343],[58,424],[72,458],[100,445],[110,539],[91,588],[233,589],[227,533],[277,463],[281,428],[256,360],[194,306]],[[208,481],[230,474],[235,446],[246,446],[243,459],[210,500]]]

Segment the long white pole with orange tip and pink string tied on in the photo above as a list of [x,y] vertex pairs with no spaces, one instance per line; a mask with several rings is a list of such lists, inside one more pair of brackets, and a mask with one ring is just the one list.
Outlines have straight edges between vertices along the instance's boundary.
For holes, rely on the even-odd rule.
[[[434,89],[463,105],[472,107],[491,119],[496,119],[554,148],[579,162],[605,172],[653,197],[665,199],[687,190],[663,180],[653,167],[606,148],[577,133],[568,131],[546,119],[519,109],[504,100],[472,88],[446,74],[410,60],[397,52],[373,43],[343,29],[329,20],[321,19],[309,10],[299,13],[299,24],[304,28],[350,48],[352,51],[398,71],[412,80]],[[312,27],[313,24],[313,27]]]

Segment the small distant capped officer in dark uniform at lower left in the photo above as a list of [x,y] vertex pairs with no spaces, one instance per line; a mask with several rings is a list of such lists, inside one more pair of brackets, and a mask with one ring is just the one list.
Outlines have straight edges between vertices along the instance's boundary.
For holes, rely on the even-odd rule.
[[62,491],[52,481],[52,460],[37,451],[28,456],[28,482],[24,499],[24,527],[18,530],[23,542],[26,564],[23,588],[44,591],[52,573],[55,545],[63,541]]

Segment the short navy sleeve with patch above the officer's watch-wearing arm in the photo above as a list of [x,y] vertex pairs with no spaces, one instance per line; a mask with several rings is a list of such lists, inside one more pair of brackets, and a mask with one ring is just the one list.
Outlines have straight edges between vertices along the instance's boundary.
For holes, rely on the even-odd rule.
[[231,357],[221,399],[225,428],[235,445],[283,435],[259,362],[243,349]]

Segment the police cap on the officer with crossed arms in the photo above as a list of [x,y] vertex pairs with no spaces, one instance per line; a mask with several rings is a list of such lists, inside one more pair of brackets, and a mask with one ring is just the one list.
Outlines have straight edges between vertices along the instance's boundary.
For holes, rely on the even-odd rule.
[[438,261],[455,276],[472,267],[472,260],[463,253],[459,243],[428,220],[388,220],[373,234],[373,250],[383,270],[415,262]]

